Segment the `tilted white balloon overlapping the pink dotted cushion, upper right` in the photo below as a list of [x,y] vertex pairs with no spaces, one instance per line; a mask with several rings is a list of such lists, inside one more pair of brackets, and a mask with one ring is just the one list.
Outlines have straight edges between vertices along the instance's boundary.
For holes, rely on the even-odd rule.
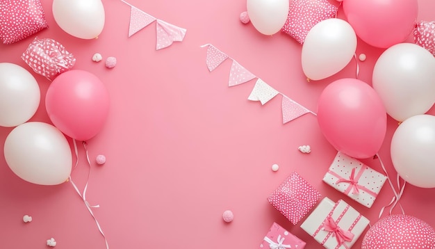
[[356,51],[356,34],[343,19],[326,19],[306,35],[302,45],[302,70],[307,78],[320,80],[343,70]]

